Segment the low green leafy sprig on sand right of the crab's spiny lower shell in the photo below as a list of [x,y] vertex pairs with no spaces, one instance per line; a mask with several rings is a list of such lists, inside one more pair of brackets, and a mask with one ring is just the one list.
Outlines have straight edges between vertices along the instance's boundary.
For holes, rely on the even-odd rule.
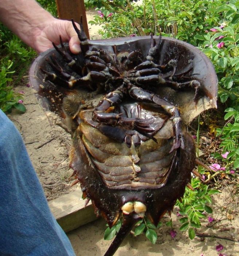
[[188,230],[189,238],[193,239],[194,228],[201,227],[200,219],[206,218],[205,212],[212,213],[212,208],[208,206],[212,203],[210,195],[219,193],[219,191],[208,189],[208,185],[202,184],[198,178],[192,178],[191,185],[194,191],[186,187],[182,202],[178,200],[176,205],[180,209],[179,213],[183,215],[179,219],[182,224],[180,231]]

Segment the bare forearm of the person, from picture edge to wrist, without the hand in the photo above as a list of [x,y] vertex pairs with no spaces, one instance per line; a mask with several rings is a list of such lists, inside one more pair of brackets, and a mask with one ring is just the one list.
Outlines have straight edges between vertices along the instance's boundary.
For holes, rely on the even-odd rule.
[[0,21],[34,48],[34,38],[54,17],[35,0],[0,0]]

